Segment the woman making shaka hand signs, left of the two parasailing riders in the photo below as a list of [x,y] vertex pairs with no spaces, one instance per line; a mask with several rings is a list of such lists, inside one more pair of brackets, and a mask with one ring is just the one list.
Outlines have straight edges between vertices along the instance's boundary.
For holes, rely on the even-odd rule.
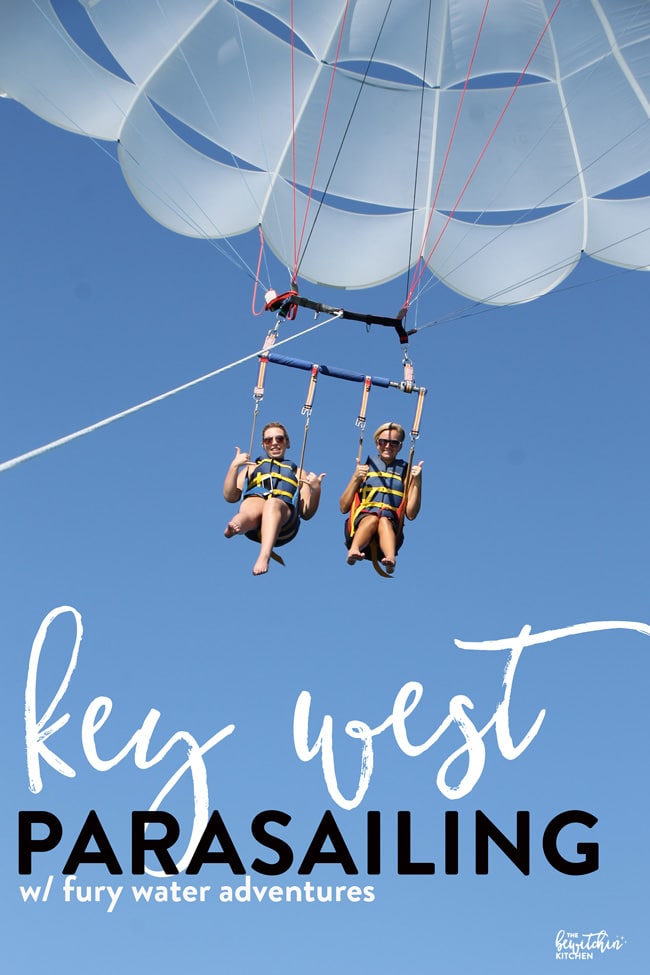
[[250,454],[235,447],[223,484],[223,496],[232,504],[243,501],[224,530],[226,538],[245,534],[260,542],[253,575],[268,572],[275,545],[284,545],[298,534],[300,519],[316,514],[324,474],[306,473],[285,459],[291,446],[286,427],[267,423],[262,430],[266,457],[251,461]]

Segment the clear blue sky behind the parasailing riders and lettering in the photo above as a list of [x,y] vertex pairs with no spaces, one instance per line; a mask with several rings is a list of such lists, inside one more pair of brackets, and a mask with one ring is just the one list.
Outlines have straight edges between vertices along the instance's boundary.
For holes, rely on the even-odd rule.
[[[208,242],[152,221],[110,152],[10,100],[0,103],[0,115],[2,460],[261,346],[273,321],[251,314],[252,282]],[[237,246],[254,260],[254,236]],[[276,273],[281,290],[286,278]],[[345,299],[317,296],[393,314],[404,282]],[[593,951],[599,970],[644,970],[647,635],[606,629],[526,649],[508,708],[514,744],[541,709],[543,723],[510,760],[488,730],[482,771],[461,756],[446,777],[440,772],[463,743],[457,727],[419,755],[405,754],[387,727],[374,737],[374,766],[354,809],[337,803],[320,757],[300,760],[292,722],[303,691],[312,695],[311,745],[323,716],[332,716],[339,799],[350,804],[360,743],[345,725],[377,729],[409,682],[423,688],[406,720],[411,743],[434,735],[456,695],[471,699],[465,709],[476,727],[490,722],[504,698],[507,653],[463,650],[455,640],[514,637],[527,624],[534,633],[590,621],[648,628],[649,298],[647,275],[590,260],[553,294],[516,308],[473,307],[441,286],[429,290],[419,321],[450,321],[411,342],[416,380],[428,388],[417,445],[425,503],[407,528],[391,581],[345,562],[338,497],[355,461],[356,385],[319,381],[306,464],[327,472],[321,509],[284,550],[286,567],[273,565],[264,578],[251,574],[253,545],[222,534],[233,509],[221,485],[235,447],[248,446],[255,361],[2,473],[8,971],[321,975],[453,967],[538,975],[562,964],[555,946],[562,930],[579,938],[606,931],[610,941],[625,942]],[[302,311],[282,335],[310,324]],[[401,350],[388,330],[336,322],[283,351],[401,377]],[[294,446],[305,390],[305,373],[269,369],[262,419],[282,420]],[[395,390],[374,390],[369,429],[388,418],[409,427],[414,405]],[[42,760],[42,789],[33,794],[28,662],[42,620],[62,606],[80,614],[84,635],[48,723],[70,718],[47,744],[76,775]],[[63,680],[73,642],[67,613],[45,640],[37,717]],[[131,812],[152,805],[186,748],[177,743],[151,768],[136,768],[132,751],[110,769],[92,767],[82,721],[100,697],[113,702],[95,733],[105,760],[151,709],[161,716],[149,758],[178,731],[202,744],[235,725],[204,756],[210,811],[220,812],[251,885],[277,885],[280,898],[298,885],[300,903],[274,902],[268,891],[261,902],[255,893],[249,902],[223,901],[223,888],[245,883],[224,863],[177,878],[181,888],[209,887],[203,903],[136,902],[132,887],[143,884],[160,885],[159,897],[171,898],[172,878],[132,874]],[[445,794],[461,782],[471,786],[471,771],[476,781],[466,795]],[[181,825],[174,849],[182,853],[193,817],[187,775],[162,807]],[[45,810],[63,827],[52,851],[34,854],[29,876],[17,869],[18,810]],[[90,885],[93,896],[93,885],[123,885],[111,911],[105,890],[92,903],[79,902],[77,888],[66,903],[63,892],[64,864],[90,810],[124,872],[81,864],[71,883],[82,895]],[[291,817],[269,827],[294,856],[276,877],[251,866],[256,857],[276,858],[251,837],[251,822],[264,810]],[[358,875],[339,863],[298,873],[326,810]],[[411,860],[435,862],[435,874],[398,874],[400,810],[411,813]],[[476,875],[477,810],[511,842],[517,811],[529,812],[528,876],[492,842],[489,872]],[[558,842],[575,861],[576,843],[598,844],[598,869],[583,876],[561,872],[543,851],[547,825],[567,810],[597,819],[592,829],[568,826]],[[381,813],[374,875],[366,863],[369,811]],[[458,814],[457,875],[445,873],[448,812]],[[401,833],[404,842],[403,818]],[[21,886],[43,890],[50,876],[47,901],[21,893]],[[306,882],[347,889],[340,903],[311,903]],[[373,890],[348,900],[355,885]]]

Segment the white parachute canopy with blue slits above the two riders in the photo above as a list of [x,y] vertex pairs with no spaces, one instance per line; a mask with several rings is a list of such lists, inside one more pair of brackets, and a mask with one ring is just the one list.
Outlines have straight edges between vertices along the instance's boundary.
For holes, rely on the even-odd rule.
[[260,224],[335,287],[421,258],[496,304],[582,252],[650,266],[647,0],[80,3],[85,37],[70,0],[4,0],[0,88],[116,140],[171,230]]

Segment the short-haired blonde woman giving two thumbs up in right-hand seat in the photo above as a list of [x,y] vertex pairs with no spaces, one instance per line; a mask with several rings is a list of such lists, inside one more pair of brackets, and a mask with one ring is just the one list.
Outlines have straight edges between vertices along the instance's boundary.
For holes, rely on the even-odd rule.
[[411,468],[408,494],[404,496],[408,465],[397,457],[404,436],[404,427],[399,423],[384,423],[373,436],[377,457],[368,457],[365,464],[357,458],[354,474],[339,502],[343,514],[354,507],[346,528],[348,565],[364,559],[368,546],[376,537],[381,549],[381,564],[388,572],[395,569],[395,557],[403,540],[400,506],[405,505],[404,514],[412,521],[422,500],[422,461]]

